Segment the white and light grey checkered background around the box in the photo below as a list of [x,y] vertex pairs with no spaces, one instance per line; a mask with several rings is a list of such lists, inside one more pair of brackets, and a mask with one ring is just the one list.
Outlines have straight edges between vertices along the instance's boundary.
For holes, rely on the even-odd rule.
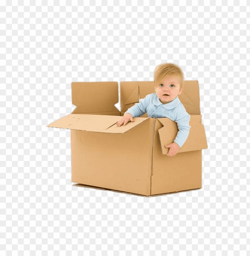
[[[247,3],[0,2],[2,255],[249,255]],[[202,189],[72,186],[70,131],[46,127],[74,110],[71,82],[153,80],[162,62],[199,81]]]

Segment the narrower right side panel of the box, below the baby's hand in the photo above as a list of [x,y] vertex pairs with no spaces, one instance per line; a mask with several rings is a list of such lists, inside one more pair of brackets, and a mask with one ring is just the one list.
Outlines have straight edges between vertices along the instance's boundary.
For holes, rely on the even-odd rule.
[[156,121],[151,194],[162,194],[201,188],[201,150],[162,154],[157,130],[162,125]]

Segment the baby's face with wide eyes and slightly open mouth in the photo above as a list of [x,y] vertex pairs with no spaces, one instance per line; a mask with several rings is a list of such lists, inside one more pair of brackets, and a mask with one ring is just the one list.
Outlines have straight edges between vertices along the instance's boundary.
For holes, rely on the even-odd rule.
[[[176,75],[171,75],[165,77],[160,83],[155,87],[155,92],[160,98],[162,104],[167,104],[173,101],[178,94],[181,94],[182,89],[180,89],[180,79]],[[166,95],[167,94],[167,95]]]

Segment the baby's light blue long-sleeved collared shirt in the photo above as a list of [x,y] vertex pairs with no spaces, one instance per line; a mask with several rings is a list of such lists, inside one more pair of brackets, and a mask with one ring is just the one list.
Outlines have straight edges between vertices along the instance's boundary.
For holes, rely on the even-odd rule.
[[134,106],[129,108],[125,114],[131,114],[132,117],[140,117],[147,113],[148,117],[162,118],[168,117],[172,121],[175,121],[178,126],[178,133],[174,139],[180,148],[187,140],[189,134],[189,120],[190,114],[180,102],[178,96],[167,104],[162,104],[156,93],[148,94],[144,99],[140,99],[139,103],[135,103]]

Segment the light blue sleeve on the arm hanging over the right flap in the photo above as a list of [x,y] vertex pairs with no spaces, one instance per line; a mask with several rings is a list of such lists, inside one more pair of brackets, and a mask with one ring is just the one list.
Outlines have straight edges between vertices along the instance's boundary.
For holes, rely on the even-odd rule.
[[180,111],[177,112],[177,117],[175,122],[177,123],[179,131],[174,139],[180,148],[183,146],[185,141],[187,140],[189,130],[191,126],[189,125],[190,114],[187,113],[184,107]]

